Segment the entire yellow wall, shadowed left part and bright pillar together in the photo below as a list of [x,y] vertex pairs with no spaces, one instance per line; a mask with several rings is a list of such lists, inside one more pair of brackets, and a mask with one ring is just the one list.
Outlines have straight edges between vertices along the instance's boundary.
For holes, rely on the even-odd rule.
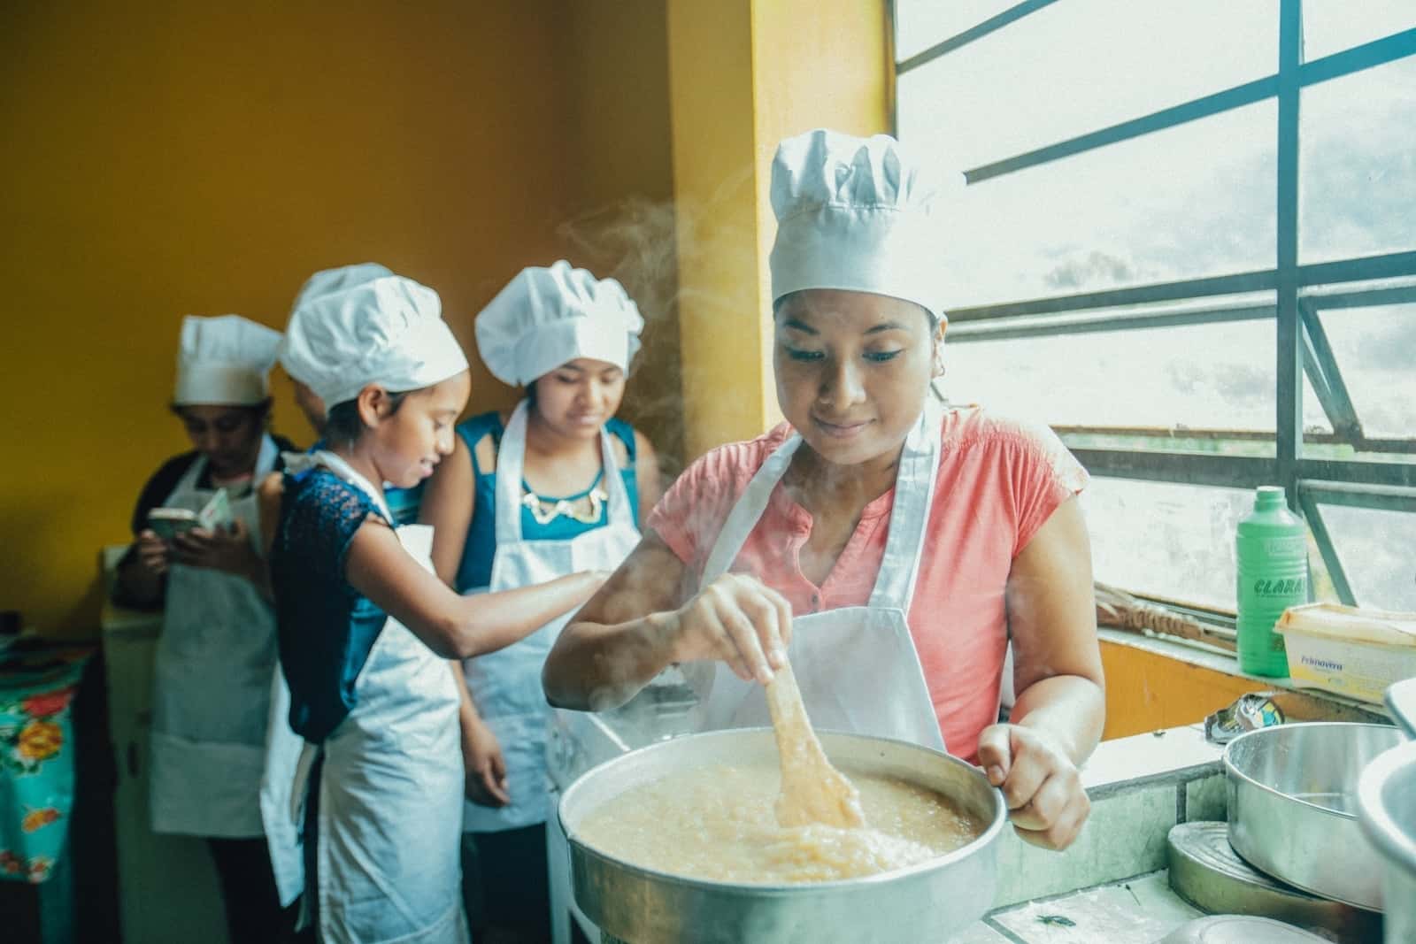
[[[181,316],[280,327],[331,265],[436,287],[469,351],[521,266],[616,275],[649,320],[624,413],[667,464],[756,434],[767,164],[888,126],[884,30],[884,0],[0,6],[0,609],[95,628],[96,549],[187,446]],[[513,402],[473,361],[469,409]]]

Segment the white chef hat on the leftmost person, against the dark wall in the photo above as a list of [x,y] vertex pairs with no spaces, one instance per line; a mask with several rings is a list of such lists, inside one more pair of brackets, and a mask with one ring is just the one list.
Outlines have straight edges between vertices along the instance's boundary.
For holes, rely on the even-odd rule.
[[269,395],[280,333],[239,314],[200,318],[188,314],[177,344],[176,406],[253,406]]

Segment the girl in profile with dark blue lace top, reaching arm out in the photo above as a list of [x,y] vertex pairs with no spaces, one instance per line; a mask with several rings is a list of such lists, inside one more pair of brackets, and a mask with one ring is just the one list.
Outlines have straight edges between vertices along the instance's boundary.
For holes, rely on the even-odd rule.
[[395,526],[384,483],[416,485],[452,453],[470,386],[430,289],[384,276],[309,299],[282,361],[329,405],[327,447],[290,456],[263,490],[290,726],[306,742],[292,788],[306,914],[327,944],[460,944],[447,660],[515,643],[603,575],[462,597],[430,570],[430,528]]

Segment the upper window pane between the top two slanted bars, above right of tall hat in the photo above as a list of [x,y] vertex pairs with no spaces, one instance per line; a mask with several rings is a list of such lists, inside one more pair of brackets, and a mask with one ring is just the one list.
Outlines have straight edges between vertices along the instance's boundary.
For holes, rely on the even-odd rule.
[[1054,3],[899,76],[901,137],[967,170],[1273,75],[1277,7]]

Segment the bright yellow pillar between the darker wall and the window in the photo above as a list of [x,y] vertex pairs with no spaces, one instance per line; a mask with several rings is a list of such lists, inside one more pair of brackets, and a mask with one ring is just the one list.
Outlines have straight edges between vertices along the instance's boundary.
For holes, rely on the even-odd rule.
[[780,419],[770,163],[783,137],[889,127],[884,0],[668,0],[690,457]]

